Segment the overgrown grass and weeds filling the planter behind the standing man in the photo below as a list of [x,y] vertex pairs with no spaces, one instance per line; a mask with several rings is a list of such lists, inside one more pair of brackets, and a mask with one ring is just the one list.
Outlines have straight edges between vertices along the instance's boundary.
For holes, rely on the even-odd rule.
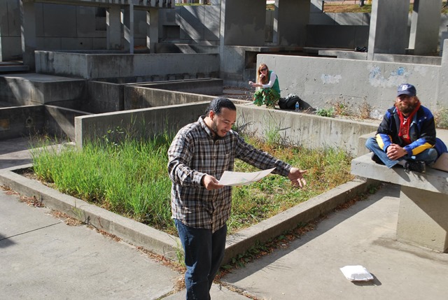
[[[86,143],[83,150],[36,147],[34,172],[57,190],[176,235],[171,219],[171,180],[167,150],[173,136],[151,141],[125,139]],[[288,178],[269,175],[257,183],[234,187],[229,234],[265,220],[351,180],[351,157],[343,150],[310,150],[247,138],[257,148],[300,169],[307,187],[293,188]],[[258,171],[237,160],[235,171]]]

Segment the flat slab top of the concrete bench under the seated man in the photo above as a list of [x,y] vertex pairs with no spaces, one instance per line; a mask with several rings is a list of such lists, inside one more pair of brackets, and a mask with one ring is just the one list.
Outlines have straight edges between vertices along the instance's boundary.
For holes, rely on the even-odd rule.
[[356,176],[395,183],[406,187],[418,187],[420,190],[448,194],[448,173],[427,168],[426,173],[405,172],[397,167],[388,169],[382,164],[376,164],[372,155],[357,157],[351,161],[351,173]]

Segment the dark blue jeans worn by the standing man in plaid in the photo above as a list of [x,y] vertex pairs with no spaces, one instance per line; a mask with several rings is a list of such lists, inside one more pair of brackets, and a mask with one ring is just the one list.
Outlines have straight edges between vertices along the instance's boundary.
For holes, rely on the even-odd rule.
[[210,299],[211,284],[224,258],[227,225],[211,233],[210,229],[189,227],[176,219],[174,222],[185,253],[186,299]]

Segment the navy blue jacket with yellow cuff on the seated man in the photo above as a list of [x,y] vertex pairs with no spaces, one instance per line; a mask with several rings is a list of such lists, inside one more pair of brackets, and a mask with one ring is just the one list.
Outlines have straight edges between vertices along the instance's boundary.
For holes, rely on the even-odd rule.
[[447,146],[435,137],[435,122],[433,113],[424,106],[420,106],[409,126],[409,137],[411,143],[405,142],[398,136],[400,132],[400,117],[397,108],[393,106],[386,111],[384,118],[377,130],[377,142],[384,152],[391,143],[395,143],[405,148],[408,155],[417,155],[428,148],[435,148],[438,156],[447,152]]

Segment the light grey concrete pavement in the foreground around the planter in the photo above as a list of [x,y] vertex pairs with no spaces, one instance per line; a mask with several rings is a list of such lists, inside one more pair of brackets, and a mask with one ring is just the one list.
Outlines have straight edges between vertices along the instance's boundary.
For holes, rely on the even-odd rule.
[[[4,145],[0,169],[11,163]],[[21,163],[26,153],[20,143],[17,150],[11,157]],[[223,282],[253,299],[447,299],[448,254],[395,241],[399,190],[385,185]],[[174,292],[181,273],[48,212],[0,191],[0,299],[184,299]],[[358,264],[374,280],[352,283],[339,270]],[[248,299],[219,285],[211,298]]]

